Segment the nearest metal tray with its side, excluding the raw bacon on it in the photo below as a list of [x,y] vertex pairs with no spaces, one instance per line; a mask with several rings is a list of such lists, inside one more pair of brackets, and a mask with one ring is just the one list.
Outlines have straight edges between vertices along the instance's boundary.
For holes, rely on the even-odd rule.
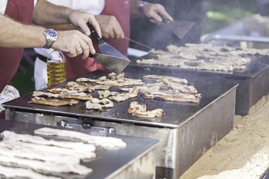
[[[16,121],[0,120],[0,132],[11,130],[20,134],[34,135],[33,131],[46,125],[37,125]],[[51,128],[59,128],[52,127]],[[70,130],[64,128],[65,130]],[[120,135],[108,135],[120,138],[127,143],[126,148],[108,150],[97,147],[97,157],[90,162],[83,162],[93,169],[93,172],[87,176],[75,175],[72,173],[61,174],[62,178],[154,178],[155,177],[155,159],[154,148],[158,141],[155,139],[128,137]],[[140,166],[149,169],[144,171]]]

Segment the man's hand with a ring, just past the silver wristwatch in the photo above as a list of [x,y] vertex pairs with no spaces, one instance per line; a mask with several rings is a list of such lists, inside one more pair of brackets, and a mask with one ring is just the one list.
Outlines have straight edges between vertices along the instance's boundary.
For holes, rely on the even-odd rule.
[[58,38],[53,43],[52,48],[66,52],[69,57],[75,57],[82,54],[82,59],[89,56],[89,52],[95,53],[92,40],[87,35],[77,31],[58,31]]

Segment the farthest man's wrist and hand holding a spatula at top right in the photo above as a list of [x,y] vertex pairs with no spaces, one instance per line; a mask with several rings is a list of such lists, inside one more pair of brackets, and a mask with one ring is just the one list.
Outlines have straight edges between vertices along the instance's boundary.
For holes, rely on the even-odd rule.
[[162,18],[173,20],[160,4],[144,3],[140,0],[130,0],[130,7],[131,16],[141,16],[142,13],[148,17],[152,23],[161,24]]

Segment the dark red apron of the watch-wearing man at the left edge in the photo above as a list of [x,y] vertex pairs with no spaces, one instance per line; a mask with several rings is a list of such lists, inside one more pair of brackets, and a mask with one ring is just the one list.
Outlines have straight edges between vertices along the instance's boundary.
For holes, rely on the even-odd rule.
[[[8,0],[5,15],[25,24],[31,24],[34,0]],[[23,48],[0,48],[0,93],[7,84],[11,84],[16,74]],[[0,118],[5,119],[4,113]]]

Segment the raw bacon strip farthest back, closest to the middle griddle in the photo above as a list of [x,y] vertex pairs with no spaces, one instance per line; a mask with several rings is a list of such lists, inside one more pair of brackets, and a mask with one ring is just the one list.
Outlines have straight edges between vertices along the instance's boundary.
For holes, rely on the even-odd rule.
[[58,136],[58,137],[79,139],[79,140],[87,141],[90,144],[95,144],[95,145],[105,147],[105,148],[126,147],[126,143],[118,138],[91,136],[91,135],[87,135],[86,133],[71,131],[71,130],[61,130],[61,129],[53,129],[53,128],[44,127],[44,128],[34,130],[34,133],[37,135]]

